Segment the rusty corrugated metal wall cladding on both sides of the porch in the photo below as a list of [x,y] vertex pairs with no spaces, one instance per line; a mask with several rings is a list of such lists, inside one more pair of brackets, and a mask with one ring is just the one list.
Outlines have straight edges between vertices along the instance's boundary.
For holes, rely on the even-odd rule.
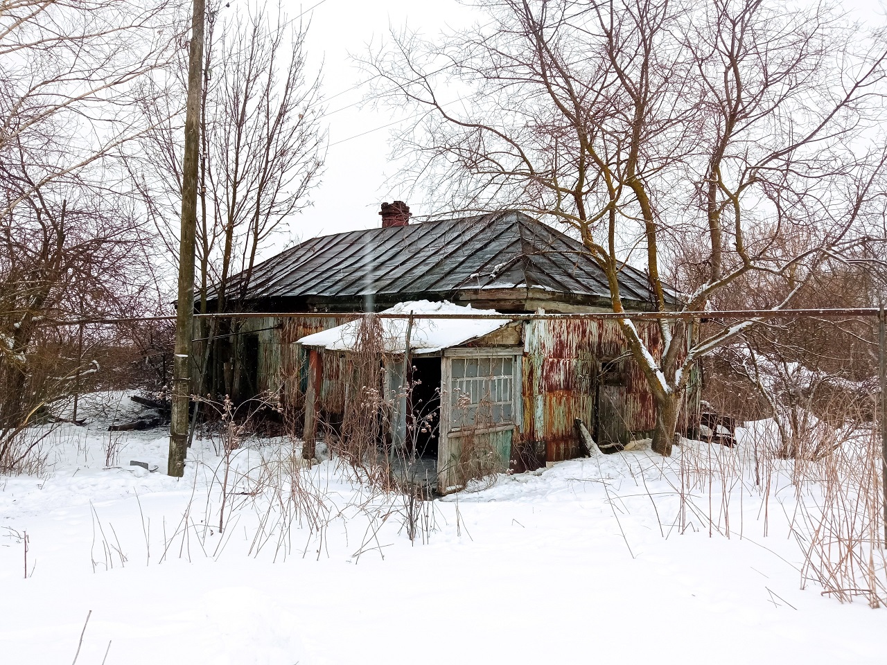
[[[294,342],[312,332],[340,325],[346,318],[261,318],[248,320],[244,332],[259,337],[259,383],[265,390],[285,388],[285,397],[301,407],[305,391],[306,355]],[[519,324],[520,325],[520,324]],[[633,358],[615,321],[532,321],[525,324],[522,361],[522,442],[545,442],[546,460],[579,454],[573,431],[582,419],[600,442],[627,442],[632,434],[655,426],[655,402],[647,379]],[[648,348],[658,348],[654,322],[639,324]],[[263,330],[270,329],[270,330]],[[519,339],[512,331],[514,342]],[[489,340],[488,340],[489,341]],[[505,341],[505,340],[500,340]],[[618,381],[600,381],[600,365],[622,357]],[[326,414],[344,411],[344,368],[341,353],[323,354],[319,405]],[[692,391],[688,407],[697,407]],[[510,440],[509,440],[510,441]]]

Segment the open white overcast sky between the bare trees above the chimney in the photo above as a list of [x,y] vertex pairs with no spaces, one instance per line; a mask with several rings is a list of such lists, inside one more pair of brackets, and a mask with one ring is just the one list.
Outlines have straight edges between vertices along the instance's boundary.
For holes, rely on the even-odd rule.
[[[388,125],[392,117],[359,107],[365,88],[355,86],[363,74],[349,59],[349,53],[364,54],[366,45],[387,38],[392,26],[408,23],[431,36],[447,25],[464,26],[475,16],[481,17],[455,0],[282,2],[290,18],[308,10],[305,16],[311,20],[310,53],[316,61],[324,60],[324,93],[332,112],[326,117],[330,143],[326,175],[312,192],[314,206],[294,218],[291,232],[296,238],[306,239],[379,226],[381,201],[403,198],[398,191],[396,168],[389,162],[388,142],[396,127],[378,129]],[[880,20],[879,14],[883,14],[883,0],[843,0],[840,4],[863,20]],[[428,212],[421,200],[407,203],[414,215]],[[269,249],[270,254],[275,253],[274,248]]]

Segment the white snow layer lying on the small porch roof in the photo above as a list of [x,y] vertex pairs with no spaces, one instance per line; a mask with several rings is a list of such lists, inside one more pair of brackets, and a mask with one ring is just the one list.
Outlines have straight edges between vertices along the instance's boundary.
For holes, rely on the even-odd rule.
[[[408,301],[398,302],[394,307],[386,309],[382,314],[498,314],[491,309],[478,311],[471,306],[462,307],[451,302]],[[404,353],[406,348],[407,318],[383,318],[382,337],[388,353]],[[410,349],[413,354],[422,355],[435,353],[443,348],[458,346],[464,342],[498,330],[507,325],[509,319],[428,319],[414,318],[410,332]],[[352,350],[357,337],[359,320],[337,325],[323,332],[302,337],[299,343],[306,347],[321,347],[331,351]]]

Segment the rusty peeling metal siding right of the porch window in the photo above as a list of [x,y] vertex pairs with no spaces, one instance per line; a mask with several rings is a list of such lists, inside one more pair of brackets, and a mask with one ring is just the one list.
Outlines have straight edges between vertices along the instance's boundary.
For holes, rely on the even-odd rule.
[[[632,434],[653,429],[653,395],[640,366],[627,355],[616,321],[531,321],[527,326],[522,434],[527,442],[545,442],[546,461],[578,456],[575,419],[589,429],[597,424],[601,442],[627,442]],[[655,323],[638,329],[648,348],[659,348]],[[621,358],[620,381],[599,385],[601,361],[613,358]]]

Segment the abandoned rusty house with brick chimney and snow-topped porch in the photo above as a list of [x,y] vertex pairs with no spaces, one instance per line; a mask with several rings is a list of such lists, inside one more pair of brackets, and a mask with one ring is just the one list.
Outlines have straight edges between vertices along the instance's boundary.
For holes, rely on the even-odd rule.
[[[427,458],[441,492],[461,486],[478,454],[468,450],[514,471],[580,456],[577,419],[602,444],[649,435],[653,397],[616,321],[518,316],[612,310],[581,243],[515,211],[409,223],[396,201],[380,214],[379,228],[306,240],[257,265],[245,287],[235,278],[234,307],[269,314],[239,324],[236,392],[279,391],[302,413],[306,442],[322,438],[346,409],[355,315],[389,312],[403,317],[381,318],[387,441]],[[642,272],[626,265],[619,286],[626,309],[652,309]],[[324,316],[274,316],[287,312]],[[639,330],[659,346],[658,326]],[[698,411],[688,394],[685,418]],[[434,426],[417,426],[429,413]]]

